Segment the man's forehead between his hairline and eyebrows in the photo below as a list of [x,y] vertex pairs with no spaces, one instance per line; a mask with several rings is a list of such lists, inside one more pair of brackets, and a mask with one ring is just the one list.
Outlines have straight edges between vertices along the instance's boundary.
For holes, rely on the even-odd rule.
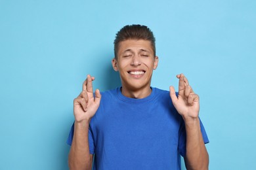
[[125,41],[119,42],[119,50],[118,53],[123,53],[125,51],[148,51],[148,52],[154,52],[152,49],[152,45],[150,41],[147,40],[134,40],[134,39],[129,39]]

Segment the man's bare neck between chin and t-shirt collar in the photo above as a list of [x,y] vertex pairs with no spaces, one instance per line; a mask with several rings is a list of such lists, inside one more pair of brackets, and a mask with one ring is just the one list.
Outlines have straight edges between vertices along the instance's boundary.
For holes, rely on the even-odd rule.
[[144,89],[140,90],[130,90],[125,87],[121,88],[121,93],[125,95],[126,97],[134,98],[134,99],[143,99],[145,97],[148,97],[150,93],[152,92],[152,89],[150,86]]

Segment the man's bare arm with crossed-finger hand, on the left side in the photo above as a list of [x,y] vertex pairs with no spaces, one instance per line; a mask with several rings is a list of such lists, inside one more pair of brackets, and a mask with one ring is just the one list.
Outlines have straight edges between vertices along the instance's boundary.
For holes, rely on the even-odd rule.
[[70,169],[91,169],[93,155],[89,153],[88,131],[91,118],[100,105],[100,91],[93,96],[94,77],[87,75],[83,91],[74,99],[74,137],[68,156]]

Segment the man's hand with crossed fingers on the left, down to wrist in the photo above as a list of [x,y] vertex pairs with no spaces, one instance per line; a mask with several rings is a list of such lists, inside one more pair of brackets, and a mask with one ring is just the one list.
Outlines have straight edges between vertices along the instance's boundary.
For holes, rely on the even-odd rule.
[[100,105],[100,90],[95,91],[93,96],[93,80],[95,77],[87,75],[83,82],[83,91],[74,99],[74,116],[76,122],[91,120]]

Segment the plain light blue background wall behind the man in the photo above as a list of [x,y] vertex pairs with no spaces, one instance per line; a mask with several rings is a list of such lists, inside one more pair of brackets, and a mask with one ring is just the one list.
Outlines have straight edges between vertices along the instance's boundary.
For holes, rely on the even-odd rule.
[[113,41],[156,36],[152,86],[184,73],[200,95],[210,169],[256,169],[256,1],[0,1],[0,169],[68,169],[73,99],[87,74],[119,86]]

